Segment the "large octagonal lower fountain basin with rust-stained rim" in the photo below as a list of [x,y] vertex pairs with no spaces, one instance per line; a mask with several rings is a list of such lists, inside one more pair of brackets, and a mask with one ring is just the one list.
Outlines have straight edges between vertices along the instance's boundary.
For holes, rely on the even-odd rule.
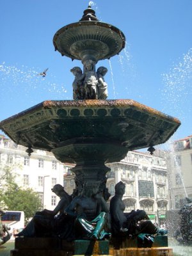
[[[179,125],[177,118],[134,100],[46,100],[0,122],[15,143],[55,152],[56,157],[56,148],[77,138],[81,144],[94,140],[113,145],[117,155],[120,148],[151,147],[167,141]],[[124,154],[122,150],[122,158]],[[68,157],[68,161],[75,160]]]

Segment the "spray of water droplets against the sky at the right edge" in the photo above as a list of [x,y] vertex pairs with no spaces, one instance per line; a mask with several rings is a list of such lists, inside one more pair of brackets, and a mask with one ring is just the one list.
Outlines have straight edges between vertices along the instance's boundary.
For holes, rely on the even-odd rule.
[[164,109],[173,116],[175,113],[179,113],[181,120],[184,120],[186,112],[191,112],[191,78],[192,48],[183,54],[179,63],[173,63],[168,73],[163,74],[164,88],[161,93],[163,94]]

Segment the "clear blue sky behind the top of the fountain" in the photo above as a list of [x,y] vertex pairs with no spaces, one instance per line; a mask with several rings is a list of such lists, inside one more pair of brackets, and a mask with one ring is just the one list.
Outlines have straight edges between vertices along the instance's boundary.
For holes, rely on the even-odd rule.
[[[72,99],[71,61],[54,51],[56,31],[81,19],[89,1],[0,0],[0,120],[44,100]],[[192,134],[192,0],[95,0],[126,47],[110,61],[108,99],[133,99],[179,118],[173,139]],[[36,76],[49,67],[43,79]]]

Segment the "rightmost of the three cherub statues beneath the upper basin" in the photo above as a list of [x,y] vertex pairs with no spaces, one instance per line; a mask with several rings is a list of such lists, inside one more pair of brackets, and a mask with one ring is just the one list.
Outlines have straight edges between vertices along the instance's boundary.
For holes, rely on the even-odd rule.
[[98,99],[105,100],[108,97],[108,84],[104,80],[104,76],[108,72],[108,68],[106,67],[99,67],[97,69],[97,76],[98,76]]

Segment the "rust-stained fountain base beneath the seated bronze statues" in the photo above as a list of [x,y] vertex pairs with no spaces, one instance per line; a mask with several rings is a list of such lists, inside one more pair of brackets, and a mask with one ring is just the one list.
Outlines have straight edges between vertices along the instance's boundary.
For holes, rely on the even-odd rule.
[[[160,238],[160,239],[159,239]],[[70,255],[113,255],[113,256],[173,256],[172,248],[166,247],[167,236],[156,236],[152,248],[138,248],[136,239],[114,241],[76,240],[68,242],[57,237],[17,237],[15,249],[10,256],[70,256]]]

